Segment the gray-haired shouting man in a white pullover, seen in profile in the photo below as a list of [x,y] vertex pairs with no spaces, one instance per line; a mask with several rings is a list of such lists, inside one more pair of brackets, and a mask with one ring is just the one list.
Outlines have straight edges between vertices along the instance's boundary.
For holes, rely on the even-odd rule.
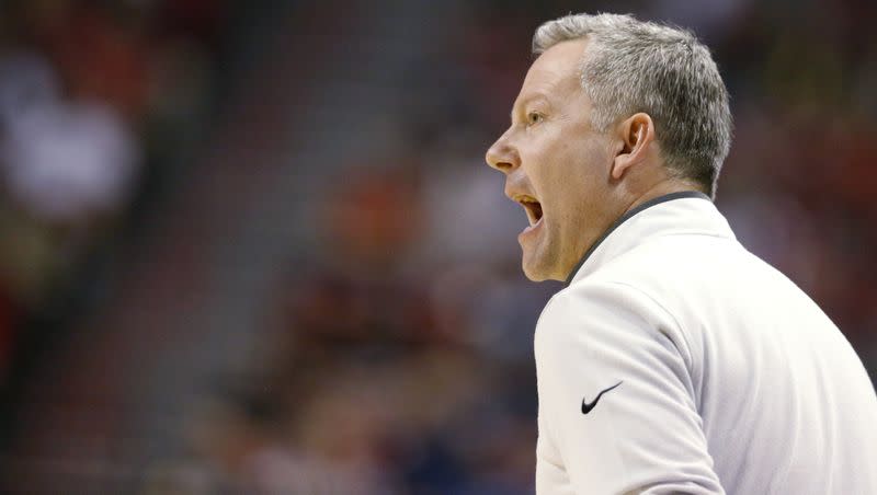
[[487,152],[529,219],[536,491],[877,494],[877,396],[838,327],[711,203],[728,95],[687,32],[540,26]]

